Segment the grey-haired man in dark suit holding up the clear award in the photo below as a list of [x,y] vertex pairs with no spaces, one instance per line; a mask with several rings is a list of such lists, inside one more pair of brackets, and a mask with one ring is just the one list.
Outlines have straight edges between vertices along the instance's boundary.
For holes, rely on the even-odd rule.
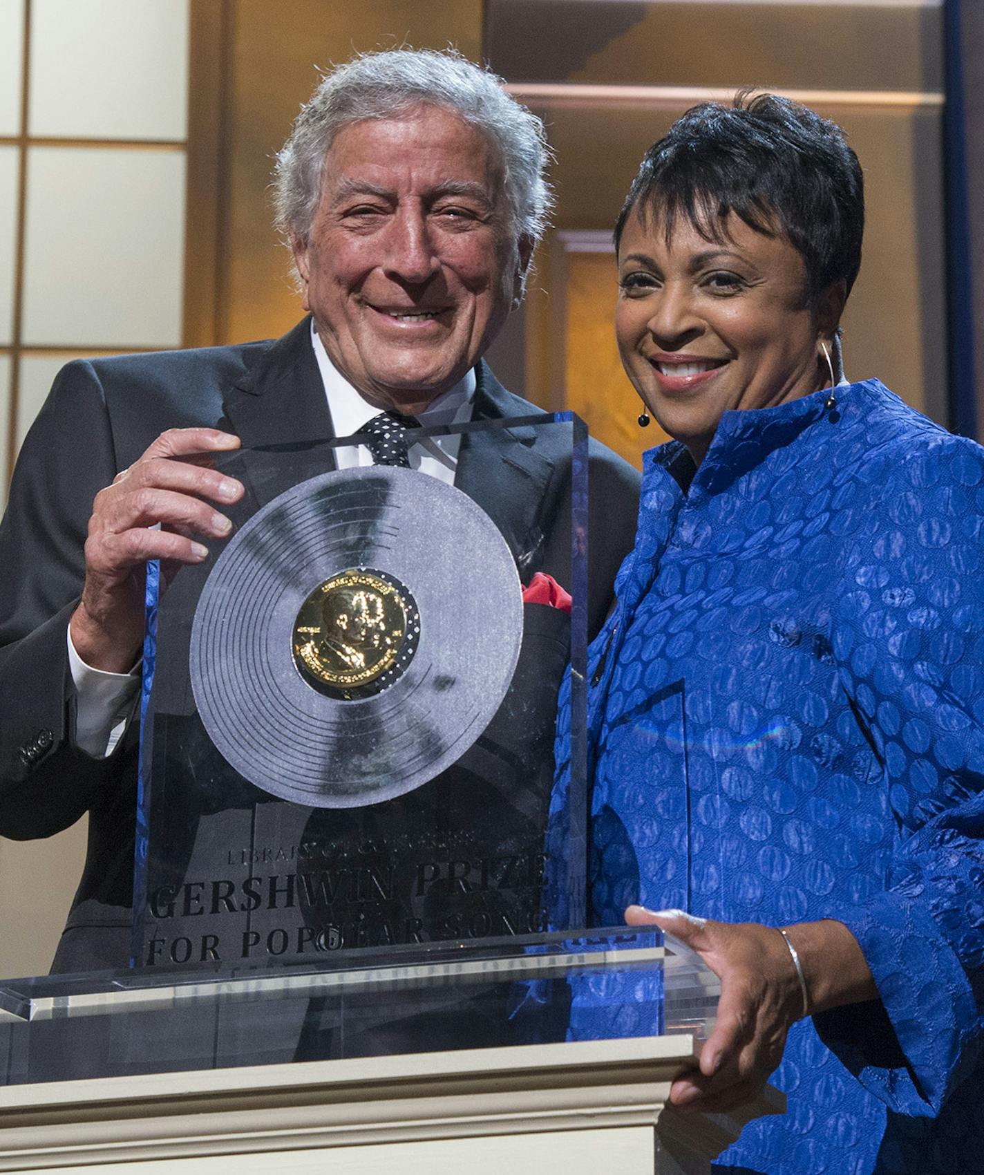
[[[229,533],[223,505],[243,494],[181,458],[399,434],[415,423],[406,417],[431,425],[533,411],[481,356],[520,302],[544,229],[545,155],[539,120],[460,56],[358,58],[322,82],[277,162],[279,227],[309,316],[274,342],[76,362],[60,374],[0,529],[0,833],[48,835],[86,811],[90,820],[55,969],[127,958],[144,564],[201,562]],[[504,430],[418,445],[409,461],[490,512],[524,578],[542,569],[562,579],[551,524],[569,461],[528,431],[521,469]],[[373,459],[378,445],[339,462]],[[604,518],[591,546],[595,627],[632,546],[636,475],[599,448],[591,494]]]

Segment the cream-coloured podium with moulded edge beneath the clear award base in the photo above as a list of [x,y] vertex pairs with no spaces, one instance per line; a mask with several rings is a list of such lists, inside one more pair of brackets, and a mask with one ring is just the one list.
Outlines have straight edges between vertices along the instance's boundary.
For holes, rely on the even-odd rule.
[[707,1175],[783,1099],[666,1107],[693,1055],[665,1036],[14,1086],[0,1170]]

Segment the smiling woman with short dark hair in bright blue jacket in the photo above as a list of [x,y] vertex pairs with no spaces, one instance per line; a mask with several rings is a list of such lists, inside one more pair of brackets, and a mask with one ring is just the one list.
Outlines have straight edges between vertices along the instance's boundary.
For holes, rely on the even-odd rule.
[[862,227],[841,130],[764,95],[676,122],[615,230],[622,362],[675,439],[592,645],[592,918],[721,976],[672,1100],[775,1069],[788,1114],[720,1160],[769,1175],[984,1170],[984,450],[837,381]]

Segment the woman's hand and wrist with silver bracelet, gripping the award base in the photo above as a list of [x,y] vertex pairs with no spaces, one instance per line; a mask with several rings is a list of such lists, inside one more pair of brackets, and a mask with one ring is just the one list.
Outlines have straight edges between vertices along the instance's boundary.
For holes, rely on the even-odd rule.
[[[803,1013],[803,989],[782,934],[757,922],[715,922],[682,911],[629,906],[629,926],[655,924],[703,959],[721,980],[717,1022],[699,1069],[678,1077],[674,1106],[720,1113],[753,1099],[782,1060],[786,1036]],[[788,928],[800,955],[809,1012],[877,996],[861,947],[843,922]]]

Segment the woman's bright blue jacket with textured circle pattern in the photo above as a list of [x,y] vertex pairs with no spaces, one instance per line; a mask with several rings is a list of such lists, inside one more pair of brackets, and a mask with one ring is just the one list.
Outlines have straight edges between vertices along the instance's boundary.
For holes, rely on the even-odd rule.
[[[788,1114],[721,1169],[984,1171],[984,449],[874,380],[825,398],[726,412],[696,474],[646,455],[589,654],[591,916],[835,918],[861,944],[881,1002],[794,1026]],[[597,1002],[575,988],[573,1038],[646,1030]]]

